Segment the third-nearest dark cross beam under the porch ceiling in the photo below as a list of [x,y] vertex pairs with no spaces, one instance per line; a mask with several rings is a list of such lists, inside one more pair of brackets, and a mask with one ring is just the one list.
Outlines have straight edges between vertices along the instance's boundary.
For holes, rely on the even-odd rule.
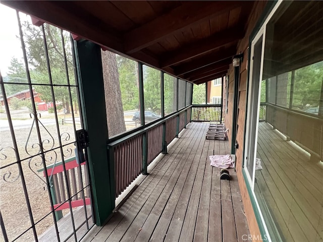
[[235,55],[236,52],[237,52],[236,46],[232,46],[230,48],[225,48],[225,49],[219,50],[215,53],[213,52],[213,53],[210,53],[206,56],[193,59],[191,62],[189,62],[187,64],[182,64],[182,65],[174,68],[174,72],[177,76],[179,76],[179,75],[206,67],[206,66],[211,65],[213,63],[217,63],[219,61],[223,61],[224,65],[226,65],[227,62],[230,62],[230,63],[232,62],[232,56]]

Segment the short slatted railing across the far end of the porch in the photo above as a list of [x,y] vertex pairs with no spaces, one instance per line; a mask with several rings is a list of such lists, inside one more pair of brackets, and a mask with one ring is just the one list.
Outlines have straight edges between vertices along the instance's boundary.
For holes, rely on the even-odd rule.
[[192,122],[222,122],[221,104],[193,105]]

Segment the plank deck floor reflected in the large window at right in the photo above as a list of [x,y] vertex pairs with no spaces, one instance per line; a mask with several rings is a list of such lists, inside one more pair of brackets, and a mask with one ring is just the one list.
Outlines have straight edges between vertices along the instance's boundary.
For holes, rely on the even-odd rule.
[[[283,241],[322,241],[323,165],[266,124],[259,124],[255,194]],[[276,227],[276,228],[275,228]]]

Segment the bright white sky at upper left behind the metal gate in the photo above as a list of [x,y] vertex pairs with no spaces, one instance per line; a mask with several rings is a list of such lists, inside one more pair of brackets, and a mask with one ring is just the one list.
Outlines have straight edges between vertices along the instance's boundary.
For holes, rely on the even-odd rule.
[[0,70],[6,76],[12,57],[23,58],[16,10],[0,4]]

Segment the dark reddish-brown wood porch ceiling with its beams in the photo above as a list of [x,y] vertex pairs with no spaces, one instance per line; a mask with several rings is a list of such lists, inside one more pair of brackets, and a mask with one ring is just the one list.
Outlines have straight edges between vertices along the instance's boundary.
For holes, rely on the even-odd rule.
[[2,1],[104,48],[201,84],[227,74],[252,1]]

